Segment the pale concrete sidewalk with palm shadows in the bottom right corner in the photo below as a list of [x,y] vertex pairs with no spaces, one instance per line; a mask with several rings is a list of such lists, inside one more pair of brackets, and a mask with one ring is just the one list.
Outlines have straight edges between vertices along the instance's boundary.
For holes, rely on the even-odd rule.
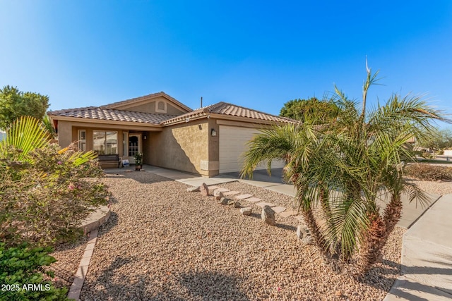
[[384,299],[452,300],[452,195],[444,195],[403,235],[402,273]]

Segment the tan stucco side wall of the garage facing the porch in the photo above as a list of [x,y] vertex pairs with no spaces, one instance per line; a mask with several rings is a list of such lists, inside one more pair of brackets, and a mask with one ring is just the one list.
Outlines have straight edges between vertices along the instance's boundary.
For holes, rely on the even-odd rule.
[[209,161],[209,123],[207,119],[191,121],[164,128],[160,133],[150,133],[145,141],[145,161],[155,166],[210,176],[201,168]]

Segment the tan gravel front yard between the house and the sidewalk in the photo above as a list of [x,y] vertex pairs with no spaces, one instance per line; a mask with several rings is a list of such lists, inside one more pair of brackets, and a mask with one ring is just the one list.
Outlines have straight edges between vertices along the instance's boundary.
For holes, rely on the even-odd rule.
[[[297,240],[293,217],[267,226],[257,207],[242,216],[152,173],[107,175],[105,182],[112,216],[100,228],[81,300],[382,300],[399,274],[400,228],[383,264],[359,282],[333,274],[315,247]],[[220,186],[292,204],[244,183]]]

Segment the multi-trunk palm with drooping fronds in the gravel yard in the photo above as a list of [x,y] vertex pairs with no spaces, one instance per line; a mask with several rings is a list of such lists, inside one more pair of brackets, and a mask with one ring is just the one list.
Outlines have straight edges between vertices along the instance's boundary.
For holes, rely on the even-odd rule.
[[[427,200],[403,178],[405,164],[414,159],[406,142],[432,133],[434,119],[446,121],[421,97],[394,94],[386,105],[367,109],[377,74],[367,69],[361,108],[335,87],[330,101],[339,112],[329,124],[316,125],[314,113],[302,124],[263,130],[249,142],[242,168],[242,177],[252,177],[262,161],[270,171],[272,159],[284,159],[285,180],[297,188],[316,246],[335,270],[351,262],[359,275],[379,259],[400,220],[402,193],[408,192],[410,201]],[[384,209],[379,207],[383,199],[389,199]]]

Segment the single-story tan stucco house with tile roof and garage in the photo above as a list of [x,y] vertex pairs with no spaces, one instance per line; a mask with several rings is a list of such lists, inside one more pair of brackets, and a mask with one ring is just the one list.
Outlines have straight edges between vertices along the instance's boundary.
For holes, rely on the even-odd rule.
[[165,92],[48,114],[61,147],[77,142],[131,164],[142,152],[144,164],[208,177],[240,171],[246,142],[259,129],[295,122],[225,102],[192,110]]

